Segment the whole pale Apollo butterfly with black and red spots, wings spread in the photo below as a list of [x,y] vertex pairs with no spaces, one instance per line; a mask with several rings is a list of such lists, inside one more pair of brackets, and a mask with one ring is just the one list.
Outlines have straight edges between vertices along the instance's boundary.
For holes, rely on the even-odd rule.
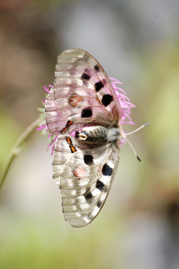
[[121,116],[113,86],[93,56],[76,48],[58,56],[45,117],[58,135],[53,178],[73,227],[89,224],[106,201],[120,157]]

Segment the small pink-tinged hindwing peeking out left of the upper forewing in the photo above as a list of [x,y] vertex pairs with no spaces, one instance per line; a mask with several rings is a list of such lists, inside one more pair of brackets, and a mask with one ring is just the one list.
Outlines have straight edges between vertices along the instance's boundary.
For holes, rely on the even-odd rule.
[[49,132],[56,135],[59,135],[69,122],[55,103],[54,87],[45,98],[45,118]]

